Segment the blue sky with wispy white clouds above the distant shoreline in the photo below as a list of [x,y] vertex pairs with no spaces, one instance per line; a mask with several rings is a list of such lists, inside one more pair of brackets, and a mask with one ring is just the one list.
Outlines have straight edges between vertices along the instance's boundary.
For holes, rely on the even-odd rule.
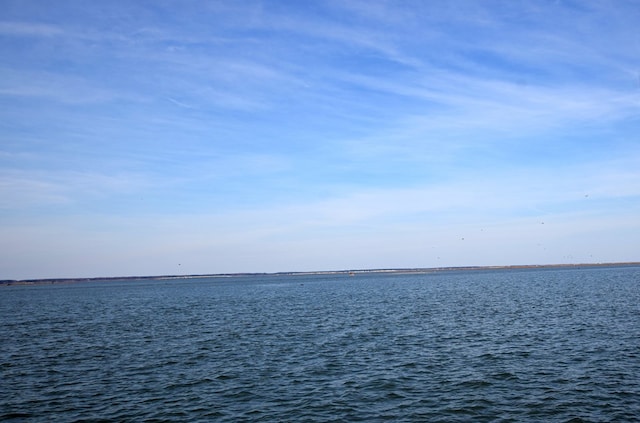
[[637,1],[0,10],[0,279],[640,260]]

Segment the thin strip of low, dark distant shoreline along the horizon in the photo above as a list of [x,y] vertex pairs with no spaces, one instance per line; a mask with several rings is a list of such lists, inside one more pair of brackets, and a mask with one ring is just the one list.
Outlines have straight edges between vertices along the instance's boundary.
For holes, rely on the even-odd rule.
[[450,267],[420,267],[400,269],[351,269],[351,270],[318,270],[307,272],[254,272],[254,273],[212,273],[194,275],[156,275],[156,276],[110,276],[91,278],[50,278],[50,279],[5,279],[0,280],[0,286],[12,285],[44,285],[56,283],[99,282],[115,280],[171,280],[171,279],[198,279],[198,278],[233,278],[242,276],[307,276],[307,275],[347,275],[355,276],[371,273],[385,274],[421,274],[452,272],[465,270],[513,270],[513,269],[563,269],[563,268],[588,268],[588,267],[625,267],[640,266],[640,262],[618,263],[578,263],[578,264],[522,264],[508,266],[450,266]]

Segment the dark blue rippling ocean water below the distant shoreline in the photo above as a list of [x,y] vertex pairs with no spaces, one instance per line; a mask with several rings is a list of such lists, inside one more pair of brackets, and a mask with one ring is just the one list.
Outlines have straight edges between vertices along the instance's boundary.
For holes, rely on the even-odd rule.
[[640,267],[0,287],[0,420],[640,421]]

